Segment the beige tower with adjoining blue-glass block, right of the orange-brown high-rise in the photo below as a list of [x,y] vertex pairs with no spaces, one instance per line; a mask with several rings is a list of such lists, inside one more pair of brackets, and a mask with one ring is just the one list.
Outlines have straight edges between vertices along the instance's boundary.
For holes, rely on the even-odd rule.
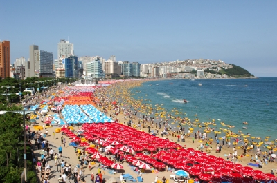
[[27,77],[53,77],[53,52],[39,50],[39,46],[30,46],[30,61]]

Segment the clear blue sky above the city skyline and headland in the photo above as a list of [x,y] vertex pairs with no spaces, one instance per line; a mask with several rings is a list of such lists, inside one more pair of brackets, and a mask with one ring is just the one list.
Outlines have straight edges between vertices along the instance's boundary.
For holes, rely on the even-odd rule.
[[54,53],[69,39],[78,57],[141,64],[221,59],[258,77],[277,77],[277,1],[5,1],[0,40],[11,63],[29,46]]

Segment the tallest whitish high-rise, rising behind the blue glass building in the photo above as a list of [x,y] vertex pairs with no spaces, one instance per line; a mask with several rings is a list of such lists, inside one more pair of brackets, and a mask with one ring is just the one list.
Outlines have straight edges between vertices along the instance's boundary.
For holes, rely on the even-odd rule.
[[57,58],[68,58],[71,55],[74,55],[74,44],[61,39],[60,43],[57,44]]

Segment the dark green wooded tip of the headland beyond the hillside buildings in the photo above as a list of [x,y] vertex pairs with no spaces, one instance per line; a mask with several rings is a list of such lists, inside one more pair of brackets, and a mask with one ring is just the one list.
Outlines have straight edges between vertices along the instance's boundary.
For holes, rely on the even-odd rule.
[[232,68],[228,68],[228,69],[222,68],[222,70],[220,70],[220,73],[222,73],[222,75],[226,74],[232,77],[254,77],[254,75],[249,73],[248,70],[245,70],[240,66],[236,66],[235,64],[231,64],[231,65],[233,66]]

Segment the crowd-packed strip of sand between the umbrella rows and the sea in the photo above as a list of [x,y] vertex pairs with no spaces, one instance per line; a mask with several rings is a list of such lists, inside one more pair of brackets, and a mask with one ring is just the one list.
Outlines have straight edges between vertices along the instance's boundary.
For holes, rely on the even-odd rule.
[[[96,108],[98,108],[98,110],[105,113],[105,115],[113,118],[114,121],[118,122],[119,124],[124,124],[125,126],[136,128],[136,130],[138,131],[145,131],[151,135],[167,139],[170,142],[177,142],[177,144],[181,144],[182,147],[194,148],[195,150],[204,151],[211,155],[215,155],[216,157],[223,157],[225,160],[232,160],[234,163],[239,163],[243,166],[247,166],[247,164],[250,162],[251,155],[255,157],[256,149],[249,149],[247,150],[246,154],[243,155],[244,152],[241,148],[238,148],[238,146],[233,146],[233,143],[229,144],[228,142],[226,142],[225,144],[222,144],[222,140],[220,140],[219,143],[222,144],[221,149],[220,151],[217,151],[216,139],[214,139],[213,137],[211,138],[211,135],[208,135],[209,137],[206,138],[203,131],[199,131],[199,133],[194,136],[193,132],[196,132],[196,129],[193,129],[190,132],[189,125],[184,128],[178,129],[178,127],[176,126],[169,126],[170,124],[167,124],[165,120],[161,121],[162,118],[159,119],[159,117],[150,117],[150,115],[154,114],[157,106],[143,104],[141,100],[135,100],[134,98],[132,98],[132,93],[130,92],[131,88],[141,86],[142,82],[144,81],[125,81],[117,84],[111,84],[106,87],[97,88],[95,93],[93,94],[96,100],[93,102],[96,104]],[[51,113],[51,115],[53,115],[53,113]],[[150,126],[151,128],[149,129],[148,126]],[[167,133],[161,133],[161,131],[164,131],[163,129],[165,129],[165,126],[166,128],[169,128],[167,130]],[[76,131],[79,129],[78,127],[77,129],[76,127],[74,128]],[[48,129],[49,131],[50,129],[54,130],[54,128]],[[179,131],[179,133],[177,133],[177,131]],[[184,133],[186,131],[187,134],[190,133],[190,135],[186,135],[186,133]],[[182,135],[183,133],[184,135]],[[200,139],[200,137],[202,138]],[[69,142],[68,139],[66,139],[66,142]],[[235,153],[235,151],[237,151],[237,153]],[[73,151],[69,153],[73,153]],[[262,153],[263,151],[261,152],[261,154]],[[257,159],[262,160],[262,155],[261,157],[258,157],[257,155]],[[262,164],[262,168],[260,170],[265,173],[270,173],[271,170],[274,169],[275,163],[276,162],[269,162],[265,165]],[[126,173],[128,173],[126,167],[129,166],[129,164],[125,162],[123,163],[123,166],[125,167],[124,170],[126,171]],[[85,167],[87,168],[87,166]],[[159,171],[159,180],[161,180],[163,176],[166,177],[166,179],[170,180],[170,175],[172,175],[172,173],[168,170],[168,168],[169,167],[167,167],[165,171]],[[254,167],[253,169],[258,168]],[[130,173],[132,173],[132,171]],[[118,174],[115,177],[118,177]],[[156,174],[153,173],[143,174],[143,178],[146,182],[154,182],[155,177]]]

